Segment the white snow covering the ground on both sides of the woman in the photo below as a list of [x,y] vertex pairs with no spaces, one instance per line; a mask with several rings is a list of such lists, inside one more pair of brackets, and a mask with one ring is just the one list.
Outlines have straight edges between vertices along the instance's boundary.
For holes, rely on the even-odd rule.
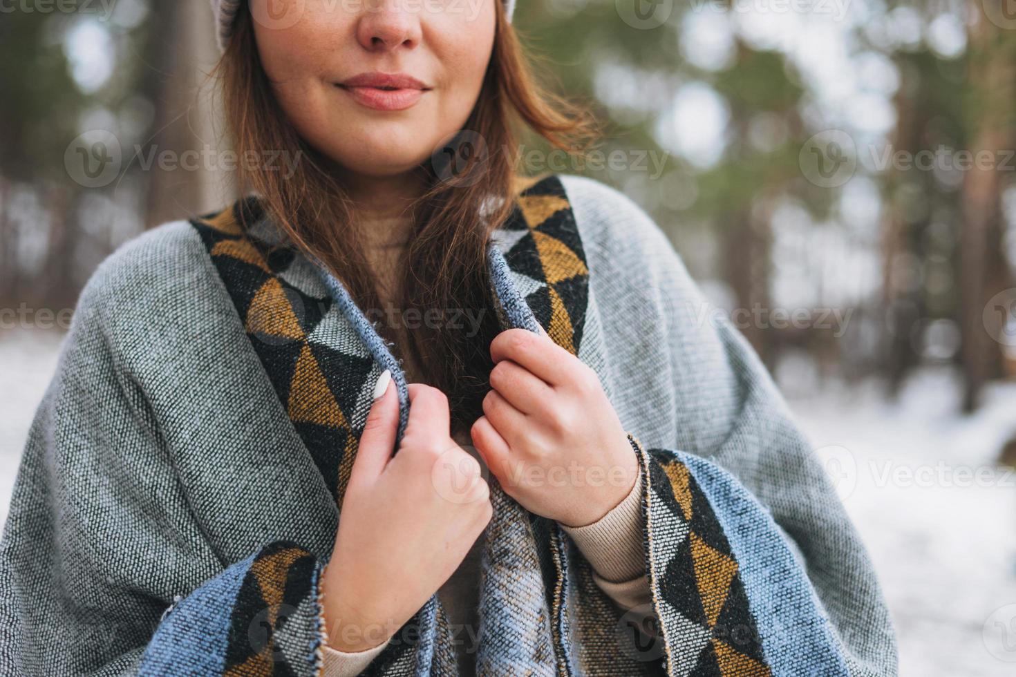
[[[0,520],[61,340],[0,333]],[[800,369],[779,374],[872,554],[903,677],[1016,674],[1016,475],[993,464],[1016,431],[1016,384],[964,417],[946,371],[919,373],[896,402],[874,382],[818,388]]]

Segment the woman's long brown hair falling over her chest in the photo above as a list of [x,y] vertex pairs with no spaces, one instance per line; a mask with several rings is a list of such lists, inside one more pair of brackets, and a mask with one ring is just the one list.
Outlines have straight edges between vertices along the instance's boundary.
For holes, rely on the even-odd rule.
[[[396,309],[415,309],[423,317],[427,309],[471,313],[481,319],[479,333],[454,322],[425,322],[404,335],[383,322],[377,327],[382,338],[398,347],[396,357],[411,351],[423,380],[448,396],[453,426],[467,427],[483,413],[492,368],[490,341],[499,327],[486,250],[491,232],[514,208],[520,177],[513,125],[521,122],[575,155],[583,154],[598,135],[584,108],[537,84],[502,0],[496,4],[494,49],[465,131],[415,170],[428,188],[409,209],[412,229],[397,267],[402,272],[393,301]],[[233,38],[214,72],[221,74],[224,114],[239,156],[272,149],[301,157],[290,177],[241,162],[241,194],[256,193],[292,245],[324,263],[361,309],[381,309],[348,192],[330,171],[334,164],[329,158],[304,142],[285,120],[258,56],[249,9],[237,13]],[[485,143],[485,153],[475,152],[478,139]]]

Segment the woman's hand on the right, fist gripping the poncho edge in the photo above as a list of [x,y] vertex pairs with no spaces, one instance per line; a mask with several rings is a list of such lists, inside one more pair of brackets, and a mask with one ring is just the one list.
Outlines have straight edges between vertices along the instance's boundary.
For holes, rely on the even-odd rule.
[[472,444],[502,488],[566,527],[591,524],[635,485],[638,460],[596,373],[546,333],[491,342],[491,390]]

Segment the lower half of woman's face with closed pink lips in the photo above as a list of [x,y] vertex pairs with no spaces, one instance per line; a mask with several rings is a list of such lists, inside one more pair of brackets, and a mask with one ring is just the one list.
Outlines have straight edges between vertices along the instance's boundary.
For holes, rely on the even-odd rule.
[[[387,177],[427,160],[480,95],[500,0],[251,0],[261,63],[297,133]],[[400,74],[398,90],[351,78]],[[375,82],[374,84],[377,84]],[[389,85],[390,86],[390,85]]]

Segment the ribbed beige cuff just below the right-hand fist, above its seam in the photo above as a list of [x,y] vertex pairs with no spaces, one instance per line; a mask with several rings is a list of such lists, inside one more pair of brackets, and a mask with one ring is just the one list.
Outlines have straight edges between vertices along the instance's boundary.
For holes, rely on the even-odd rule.
[[645,573],[642,544],[642,466],[625,498],[611,512],[583,527],[561,528],[568,534],[600,579],[626,583]]

